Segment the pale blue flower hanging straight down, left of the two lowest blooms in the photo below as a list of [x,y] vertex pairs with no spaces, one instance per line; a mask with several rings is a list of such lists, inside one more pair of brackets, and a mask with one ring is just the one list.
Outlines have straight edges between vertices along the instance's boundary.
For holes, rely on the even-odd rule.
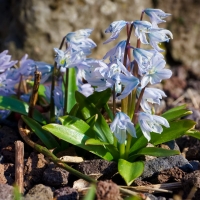
[[129,116],[123,112],[116,114],[115,119],[110,125],[110,129],[120,144],[125,143],[127,133],[132,137],[137,137],[134,124],[131,122]]

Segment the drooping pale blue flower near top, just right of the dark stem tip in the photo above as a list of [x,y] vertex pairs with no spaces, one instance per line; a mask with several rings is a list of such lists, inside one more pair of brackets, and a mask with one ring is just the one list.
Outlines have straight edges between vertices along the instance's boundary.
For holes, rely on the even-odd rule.
[[149,44],[146,38],[146,33],[149,33],[152,28],[152,24],[147,21],[136,20],[133,22],[135,27],[135,36],[140,39],[143,44]]

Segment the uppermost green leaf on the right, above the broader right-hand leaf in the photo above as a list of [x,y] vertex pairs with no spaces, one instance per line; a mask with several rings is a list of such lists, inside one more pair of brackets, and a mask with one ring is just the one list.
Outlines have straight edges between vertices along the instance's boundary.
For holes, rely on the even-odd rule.
[[186,105],[181,105],[175,108],[168,110],[167,112],[162,114],[162,117],[167,119],[169,122],[175,119],[187,116],[192,114],[192,111],[186,109]]

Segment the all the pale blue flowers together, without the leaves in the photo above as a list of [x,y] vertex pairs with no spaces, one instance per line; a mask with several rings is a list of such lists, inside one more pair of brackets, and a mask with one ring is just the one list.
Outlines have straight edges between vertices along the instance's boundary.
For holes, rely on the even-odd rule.
[[[133,47],[129,42],[127,43],[127,40],[123,40],[109,50],[102,59],[88,58],[91,50],[96,47],[94,41],[89,38],[92,29],[81,29],[68,33],[65,36],[66,50],[54,48],[57,70],[62,74],[67,69],[74,68],[77,88],[85,96],[91,95],[94,91],[111,88],[115,99],[123,100],[135,91],[143,111],[136,110],[134,116],[128,116],[123,110],[116,114],[110,128],[119,143],[126,141],[127,133],[136,137],[132,123],[134,122],[132,117],[136,118],[136,115],[140,128],[148,141],[151,139],[150,132],[161,133],[162,126],[169,127],[166,119],[152,113],[153,104],[160,104],[160,99],[166,97],[165,93],[160,89],[147,88],[147,86],[160,83],[172,75],[171,70],[165,69],[166,62],[161,54],[164,50],[159,47],[159,43],[168,42],[173,36],[169,30],[158,27],[158,24],[165,22],[163,19],[170,14],[159,9],[145,9],[143,14],[149,16],[151,22],[142,20],[112,22],[105,30],[105,33],[111,33],[111,36],[104,44],[117,39],[120,31],[127,26],[129,31],[132,30],[130,27],[134,27],[137,39],[143,44],[150,45],[151,49]],[[127,53],[131,51],[133,58]],[[51,65],[27,59],[28,55],[21,59],[18,68],[12,68],[17,61],[10,61],[11,57],[7,53],[8,51],[4,51],[0,54],[1,95],[15,94],[16,83],[20,79],[32,76],[35,66],[42,72],[42,83],[52,72]],[[63,76],[60,76],[59,80],[64,81],[62,79]],[[50,101],[51,88],[45,87],[46,97]],[[64,114],[63,99],[65,96],[62,87],[60,82],[53,93],[58,116]],[[139,98],[141,95],[142,98]]]

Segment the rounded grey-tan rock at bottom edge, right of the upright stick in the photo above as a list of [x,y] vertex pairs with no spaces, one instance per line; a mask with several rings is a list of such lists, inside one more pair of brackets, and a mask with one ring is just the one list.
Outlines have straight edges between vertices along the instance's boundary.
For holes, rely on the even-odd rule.
[[50,200],[53,199],[53,192],[50,187],[42,184],[35,185],[25,195],[24,200]]

